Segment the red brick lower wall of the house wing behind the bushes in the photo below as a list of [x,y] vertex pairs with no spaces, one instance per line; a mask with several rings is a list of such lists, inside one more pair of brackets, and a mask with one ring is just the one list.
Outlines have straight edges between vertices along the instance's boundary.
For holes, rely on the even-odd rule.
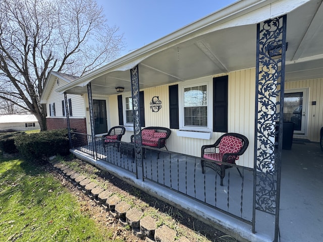
[[[46,118],[47,130],[67,129],[66,118]],[[86,119],[85,118],[70,118],[71,129],[86,134]]]

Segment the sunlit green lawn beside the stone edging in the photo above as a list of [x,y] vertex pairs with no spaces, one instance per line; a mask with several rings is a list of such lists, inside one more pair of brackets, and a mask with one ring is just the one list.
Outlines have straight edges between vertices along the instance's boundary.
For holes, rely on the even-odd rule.
[[0,158],[0,241],[119,241],[112,234],[45,169]]

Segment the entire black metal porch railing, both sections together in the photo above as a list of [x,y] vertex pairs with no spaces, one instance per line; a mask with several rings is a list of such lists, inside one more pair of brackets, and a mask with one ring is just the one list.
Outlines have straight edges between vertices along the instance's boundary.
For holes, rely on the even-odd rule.
[[[137,174],[137,165],[132,153],[133,144],[116,141],[104,148],[102,138],[97,137],[94,145],[90,142],[92,140],[90,135],[73,133],[73,137],[74,149],[91,155],[95,160],[104,160]],[[86,144],[85,138],[88,141]],[[143,157],[144,180],[150,180],[247,224],[252,224],[252,168],[230,164],[231,168],[226,169],[224,186],[221,186],[220,176],[214,170],[206,167],[205,173],[202,173],[200,157],[152,147],[143,149]]]

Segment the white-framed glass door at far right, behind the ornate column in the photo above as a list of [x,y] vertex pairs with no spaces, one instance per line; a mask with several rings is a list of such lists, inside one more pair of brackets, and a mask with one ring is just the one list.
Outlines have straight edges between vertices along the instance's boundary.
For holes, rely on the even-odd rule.
[[284,122],[294,123],[294,135],[305,135],[307,89],[285,90]]

